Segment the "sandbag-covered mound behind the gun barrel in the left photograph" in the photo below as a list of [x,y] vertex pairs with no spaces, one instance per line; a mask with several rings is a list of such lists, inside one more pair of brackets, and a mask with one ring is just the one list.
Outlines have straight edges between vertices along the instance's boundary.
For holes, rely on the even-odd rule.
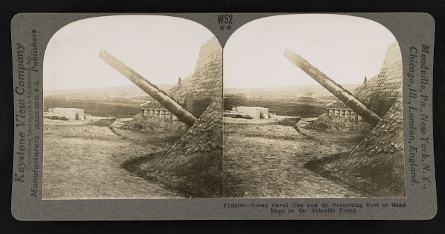
[[191,113],[204,111],[166,153],[127,164],[138,176],[188,196],[223,196],[223,49],[215,37],[202,45],[193,75],[167,93]]

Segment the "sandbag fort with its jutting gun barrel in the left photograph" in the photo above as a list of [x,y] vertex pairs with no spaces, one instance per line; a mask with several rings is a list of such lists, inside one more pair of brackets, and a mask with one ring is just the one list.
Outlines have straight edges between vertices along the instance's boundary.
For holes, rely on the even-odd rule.
[[99,56],[156,100],[145,104],[127,127],[186,132],[166,152],[129,161],[124,168],[186,196],[223,196],[223,50],[218,40],[213,37],[202,45],[193,75],[168,92],[111,54],[102,51]]

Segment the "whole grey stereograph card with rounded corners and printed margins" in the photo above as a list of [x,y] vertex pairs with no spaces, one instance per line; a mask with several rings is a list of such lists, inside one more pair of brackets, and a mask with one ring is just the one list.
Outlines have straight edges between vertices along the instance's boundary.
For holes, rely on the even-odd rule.
[[19,220],[431,219],[426,13],[22,13]]

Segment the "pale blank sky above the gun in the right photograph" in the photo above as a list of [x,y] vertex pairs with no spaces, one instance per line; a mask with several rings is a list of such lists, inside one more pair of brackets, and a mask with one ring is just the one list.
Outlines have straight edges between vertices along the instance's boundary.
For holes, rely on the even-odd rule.
[[345,15],[280,15],[237,29],[223,51],[225,88],[318,84],[286,57],[305,58],[339,84],[360,84],[380,73],[387,47],[396,40],[377,22]]

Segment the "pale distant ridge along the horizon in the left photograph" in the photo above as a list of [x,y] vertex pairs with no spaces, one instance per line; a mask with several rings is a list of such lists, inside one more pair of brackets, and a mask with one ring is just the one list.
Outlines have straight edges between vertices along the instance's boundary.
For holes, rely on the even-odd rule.
[[[168,91],[176,84],[161,84],[157,85],[163,91]],[[44,90],[44,96],[50,95],[82,95],[82,96],[147,96],[142,89],[138,86],[118,86],[118,87],[103,87],[103,88],[79,88],[79,89],[67,89],[67,90]]]

